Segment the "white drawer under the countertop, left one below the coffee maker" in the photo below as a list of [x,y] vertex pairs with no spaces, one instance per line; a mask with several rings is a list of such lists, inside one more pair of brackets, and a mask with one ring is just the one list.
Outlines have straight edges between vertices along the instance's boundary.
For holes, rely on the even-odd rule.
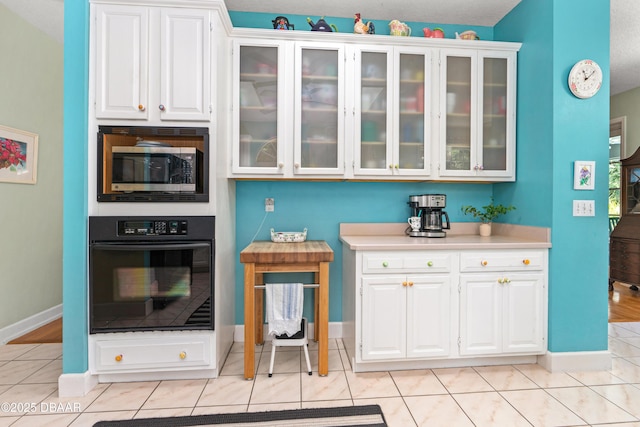
[[430,251],[371,253],[362,257],[362,272],[448,273],[452,270],[453,259],[450,253]]

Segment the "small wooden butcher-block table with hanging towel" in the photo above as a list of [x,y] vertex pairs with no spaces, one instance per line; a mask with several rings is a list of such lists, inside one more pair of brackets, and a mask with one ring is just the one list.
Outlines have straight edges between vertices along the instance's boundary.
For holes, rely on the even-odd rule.
[[255,288],[264,284],[264,273],[314,273],[314,339],[318,341],[318,374],[329,373],[329,263],[331,247],[322,240],[302,243],[253,242],[240,252],[244,264],[244,377],[255,374],[255,346],[263,342],[264,292]]

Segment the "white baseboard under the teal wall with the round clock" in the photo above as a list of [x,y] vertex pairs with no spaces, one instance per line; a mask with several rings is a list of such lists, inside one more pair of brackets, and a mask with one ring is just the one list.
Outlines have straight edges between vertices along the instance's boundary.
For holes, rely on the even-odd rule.
[[611,353],[606,351],[575,351],[547,353],[538,356],[538,365],[549,372],[608,371]]

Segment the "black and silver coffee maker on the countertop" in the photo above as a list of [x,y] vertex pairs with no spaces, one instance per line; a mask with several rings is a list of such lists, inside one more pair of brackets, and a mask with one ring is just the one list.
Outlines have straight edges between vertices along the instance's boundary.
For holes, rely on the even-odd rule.
[[[444,194],[409,196],[411,216],[419,217],[420,220],[407,229],[407,234],[411,237],[446,237],[447,233],[442,230],[451,229],[449,215],[443,210],[446,201],[447,196]],[[411,224],[411,218],[409,223]]]

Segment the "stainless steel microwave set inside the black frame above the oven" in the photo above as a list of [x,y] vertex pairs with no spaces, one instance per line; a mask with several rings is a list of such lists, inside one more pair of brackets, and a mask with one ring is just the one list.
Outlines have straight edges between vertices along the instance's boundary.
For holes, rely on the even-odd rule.
[[111,148],[111,190],[195,192],[202,153],[194,147]]

